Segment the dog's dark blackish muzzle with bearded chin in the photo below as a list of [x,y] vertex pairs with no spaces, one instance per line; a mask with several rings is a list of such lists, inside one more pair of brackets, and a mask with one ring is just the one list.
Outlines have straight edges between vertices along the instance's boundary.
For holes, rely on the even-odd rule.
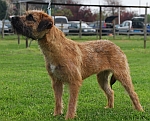
[[37,39],[35,36],[32,35],[32,28],[25,26],[19,17],[12,17],[11,24],[17,34],[21,34],[33,40]]

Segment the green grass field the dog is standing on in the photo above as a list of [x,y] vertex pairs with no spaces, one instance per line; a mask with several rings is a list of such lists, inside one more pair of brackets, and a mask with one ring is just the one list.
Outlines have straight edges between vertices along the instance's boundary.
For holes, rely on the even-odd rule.
[[[79,41],[78,37],[70,37]],[[106,98],[95,75],[87,78],[80,89],[75,121],[148,121],[150,120],[150,37],[143,49],[143,36],[110,39],[126,53],[131,76],[145,112],[133,109],[119,82],[115,83],[115,108],[104,109]],[[94,40],[96,37],[80,39]],[[64,115],[53,117],[54,97],[45,69],[43,55],[36,41],[25,48],[25,39],[17,44],[16,36],[0,38],[0,121],[64,121],[68,88],[64,88]]]

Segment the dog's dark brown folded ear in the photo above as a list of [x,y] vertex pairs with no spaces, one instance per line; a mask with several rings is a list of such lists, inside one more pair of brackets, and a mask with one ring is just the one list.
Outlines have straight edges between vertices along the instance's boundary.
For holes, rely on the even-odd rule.
[[37,28],[37,31],[38,31],[38,32],[41,32],[41,31],[43,31],[43,30],[45,30],[45,29],[50,29],[50,28],[52,28],[52,26],[53,26],[53,23],[52,23],[50,20],[45,19],[45,20],[42,20],[42,21],[39,23],[38,28]]

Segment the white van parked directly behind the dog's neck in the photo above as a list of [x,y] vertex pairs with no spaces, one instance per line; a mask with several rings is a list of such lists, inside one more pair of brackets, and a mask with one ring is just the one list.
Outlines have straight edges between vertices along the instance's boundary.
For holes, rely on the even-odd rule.
[[55,26],[63,31],[65,34],[68,34],[68,19],[66,16],[52,16],[55,22]]

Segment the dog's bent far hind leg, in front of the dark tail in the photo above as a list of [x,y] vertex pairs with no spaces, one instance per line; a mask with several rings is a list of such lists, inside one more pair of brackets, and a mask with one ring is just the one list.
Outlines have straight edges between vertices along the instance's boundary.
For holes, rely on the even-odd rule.
[[110,85],[108,84],[108,76],[110,74],[110,71],[103,71],[97,74],[97,80],[102,88],[102,90],[105,92],[107,97],[107,106],[105,108],[113,108],[114,107],[114,91],[111,89]]

